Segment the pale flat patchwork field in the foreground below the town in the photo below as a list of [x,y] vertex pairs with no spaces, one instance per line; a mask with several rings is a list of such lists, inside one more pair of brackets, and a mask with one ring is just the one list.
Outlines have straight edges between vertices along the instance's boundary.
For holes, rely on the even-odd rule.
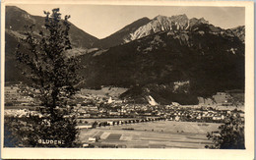
[[[212,143],[207,132],[217,131],[220,124],[192,122],[149,122],[82,130],[80,140],[99,136],[97,146],[119,145],[128,148],[204,148]],[[122,130],[134,129],[134,130]]]

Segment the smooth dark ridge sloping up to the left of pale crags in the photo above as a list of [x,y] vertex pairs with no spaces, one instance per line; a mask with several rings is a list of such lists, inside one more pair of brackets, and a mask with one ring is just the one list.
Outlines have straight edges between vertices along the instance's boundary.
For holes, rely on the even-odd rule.
[[125,43],[125,39],[130,38],[130,33],[138,29],[139,27],[142,27],[150,22],[149,18],[142,18],[140,20],[137,20],[136,22],[121,28],[120,30],[116,31],[115,33],[97,40],[94,44],[95,47],[99,48],[109,48],[115,45],[119,45],[122,43]]

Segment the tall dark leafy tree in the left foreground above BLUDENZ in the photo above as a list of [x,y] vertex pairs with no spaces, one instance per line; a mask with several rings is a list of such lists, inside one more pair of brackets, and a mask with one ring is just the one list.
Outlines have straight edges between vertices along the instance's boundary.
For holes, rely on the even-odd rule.
[[[67,107],[68,101],[78,90],[81,80],[77,74],[79,60],[68,56],[72,49],[69,39],[70,24],[65,16],[61,20],[59,9],[52,13],[44,12],[44,29],[34,33],[33,26],[26,27],[26,38],[21,39],[16,58],[23,67],[23,74],[31,81],[30,86],[38,90],[34,95],[44,106],[38,115],[29,115],[25,130],[12,131],[22,136],[25,146],[61,146],[75,145],[78,130],[73,108]],[[19,123],[20,120],[17,120]],[[26,120],[27,121],[27,120]],[[13,125],[10,129],[15,129]],[[24,132],[24,133],[23,133]],[[62,140],[61,143],[44,145],[43,139]]]

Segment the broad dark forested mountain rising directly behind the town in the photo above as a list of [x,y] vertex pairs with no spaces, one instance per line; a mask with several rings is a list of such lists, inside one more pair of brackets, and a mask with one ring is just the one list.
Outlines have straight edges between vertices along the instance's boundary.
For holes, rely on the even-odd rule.
[[128,87],[122,98],[141,102],[152,95],[166,104],[195,104],[197,96],[244,89],[244,43],[239,37],[203,19],[175,27],[82,56],[86,86]]

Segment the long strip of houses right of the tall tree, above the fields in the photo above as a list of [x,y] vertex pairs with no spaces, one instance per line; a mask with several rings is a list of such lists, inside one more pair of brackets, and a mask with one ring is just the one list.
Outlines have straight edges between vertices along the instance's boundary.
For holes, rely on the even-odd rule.
[[[226,110],[206,108],[191,108],[177,105],[147,105],[147,104],[112,104],[105,106],[79,106],[77,107],[78,118],[142,118],[161,117],[170,121],[188,122],[213,122],[222,123],[230,114]],[[241,117],[244,112],[240,111]]]

